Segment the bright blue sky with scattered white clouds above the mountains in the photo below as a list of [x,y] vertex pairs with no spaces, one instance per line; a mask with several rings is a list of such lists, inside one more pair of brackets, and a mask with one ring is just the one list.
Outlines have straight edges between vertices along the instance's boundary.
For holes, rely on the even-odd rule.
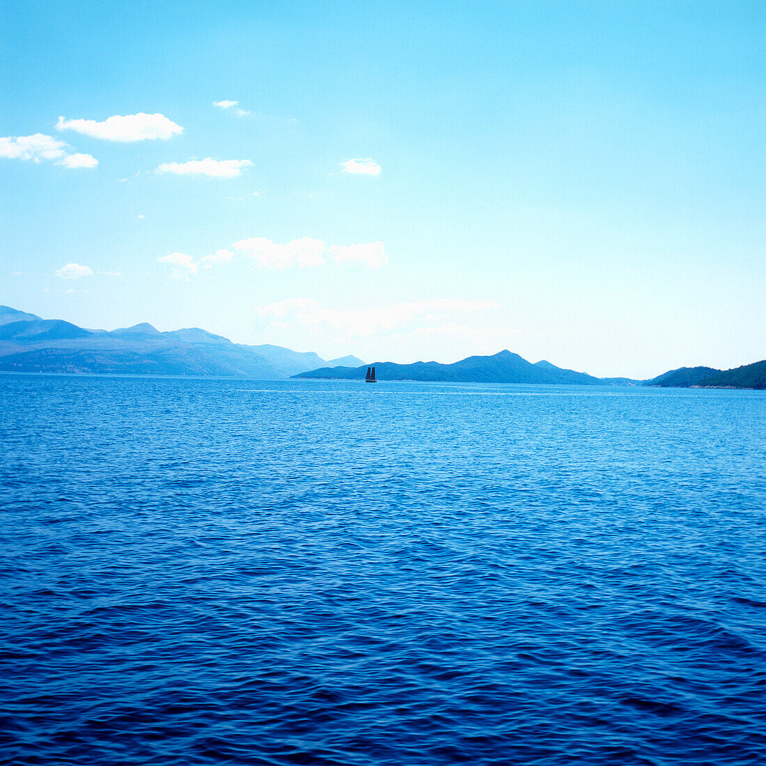
[[0,303],[323,358],[766,358],[766,4],[0,0]]

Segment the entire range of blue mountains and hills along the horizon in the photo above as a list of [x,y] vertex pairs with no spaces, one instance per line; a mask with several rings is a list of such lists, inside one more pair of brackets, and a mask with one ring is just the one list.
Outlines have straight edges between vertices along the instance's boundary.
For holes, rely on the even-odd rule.
[[[726,371],[681,367],[647,381],[595,378],[545,360],[527,362],[507,350],[469,356],[451,365],[375,362],[375,368],[378,380],[391,381],[766,388],[766,360]],[[0,372],[363,380],[367,365],[355,356],[325,360],[314,352],[278,345],[233,343],[199,327],[160,332],[142,322],[111,331],[94,330],[0,306]]]

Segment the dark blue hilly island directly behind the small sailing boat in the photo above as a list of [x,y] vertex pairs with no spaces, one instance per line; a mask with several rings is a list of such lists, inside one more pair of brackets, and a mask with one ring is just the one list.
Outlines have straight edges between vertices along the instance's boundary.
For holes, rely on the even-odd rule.
[[[293,378],[340,378],[363,380],[367,365],[361,367],[324,367],[293,375]],[[599,385],[592,375],[565,370],[550,362],[533,365],[518,354],[501,351],[493,356],[469,356],[451,365],[439,362],[414,362],[398,365],[394,362],[375,362],[378,380],[388,381],[440,381],[460,383],[566,383]]]

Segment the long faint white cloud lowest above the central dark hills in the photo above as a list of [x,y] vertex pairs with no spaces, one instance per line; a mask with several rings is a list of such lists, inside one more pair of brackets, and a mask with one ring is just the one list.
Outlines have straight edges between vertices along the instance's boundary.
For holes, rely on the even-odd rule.
[[[257,308],[261,316],[289,319],[280,327],[290,324],[311,329],[330,329],[347,336],[372,336],[378,332],[391,332],[405,326],[419,325],[415,332],[426,335],[463,335],[463,326],[445,322],[455,314],[470,314],[498,308],[493,300],[417,300],[394,306],[372,306],[365,309],[322,309],[316,300],[292,298]],[[434,323],[440,322],[437,326]],[[460,328],[460,329],[458,329]]]

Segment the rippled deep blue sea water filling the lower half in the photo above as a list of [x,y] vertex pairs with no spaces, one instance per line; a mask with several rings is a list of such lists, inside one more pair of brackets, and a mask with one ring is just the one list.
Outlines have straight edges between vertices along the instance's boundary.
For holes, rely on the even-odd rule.
[[0,401],[2,764],[766,762],[763,391]]

